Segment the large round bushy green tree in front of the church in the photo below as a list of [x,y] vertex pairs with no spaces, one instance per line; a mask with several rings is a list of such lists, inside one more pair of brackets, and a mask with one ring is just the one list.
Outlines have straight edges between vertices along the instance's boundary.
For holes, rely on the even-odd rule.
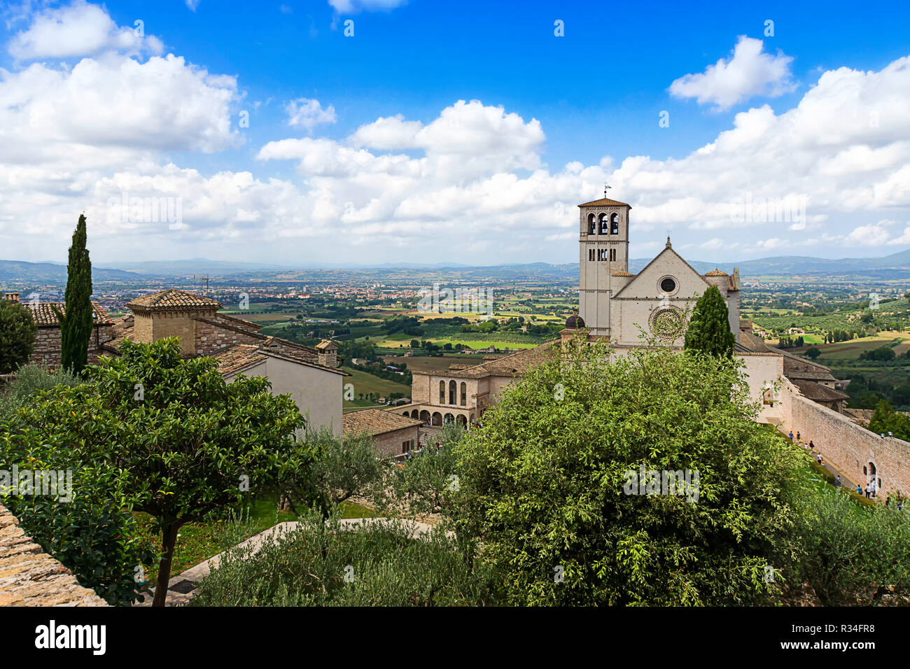
[[[450,504],[459,532],[513,604],[765,601],[804,456],[754,422],[736,360],[666,348],[606,360],[601,342],[554,356],[468,432]],[[689,471],[692,487],[642,494],[627,487],[642,469],[660,485]]]

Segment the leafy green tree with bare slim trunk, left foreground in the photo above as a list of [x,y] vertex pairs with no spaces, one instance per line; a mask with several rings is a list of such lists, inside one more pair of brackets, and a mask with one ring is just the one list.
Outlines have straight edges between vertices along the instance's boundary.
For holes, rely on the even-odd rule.
[[313,451],[295,437],[305,421],[268,379],[227,383],[216,360],[185,360],[176,339],[127,340],[120,358],[86,370],[86,383],[35,408],[30,428],[126,472],[134,509],[162,532],[154,605],[163,606],[179,529],[307,470]]

